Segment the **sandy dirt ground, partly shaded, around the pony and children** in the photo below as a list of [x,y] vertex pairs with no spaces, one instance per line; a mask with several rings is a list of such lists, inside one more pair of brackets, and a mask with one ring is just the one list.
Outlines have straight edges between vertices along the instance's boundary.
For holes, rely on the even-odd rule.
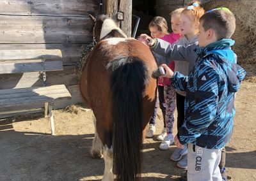
[[[227,145],[230,180],[256,180],[256,83],[243,82],[236,99],[234,134]],[[100,180],[103,159],[91,159],[92,111],[54,110],[56,134],[49,119],[33,114],[0,120],[0,180]],[[163,128],[159,111],[157,134]],[[176,133],[176,125],[174,126]],[[143,180],[179,180],[185,171],[170,161],[175,146],[160,150],[160,141],[143,143]]]

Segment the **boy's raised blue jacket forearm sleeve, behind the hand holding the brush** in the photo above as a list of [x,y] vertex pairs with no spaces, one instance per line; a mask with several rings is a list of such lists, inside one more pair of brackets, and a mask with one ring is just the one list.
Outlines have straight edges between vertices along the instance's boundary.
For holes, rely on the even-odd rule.
[[179,71],[175,71],[171,78],[172,86],[177,91],[187,91],[188,76],[184,76]]

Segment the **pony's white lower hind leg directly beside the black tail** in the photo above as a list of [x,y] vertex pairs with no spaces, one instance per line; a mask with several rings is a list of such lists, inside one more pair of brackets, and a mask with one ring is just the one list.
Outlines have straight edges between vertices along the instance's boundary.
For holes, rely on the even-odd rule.
[[115,178],[113,174],[113,148],[110,149],[105,146],[103,150],[103,157],[105,162],[104,175],[102,181],[112,181]]

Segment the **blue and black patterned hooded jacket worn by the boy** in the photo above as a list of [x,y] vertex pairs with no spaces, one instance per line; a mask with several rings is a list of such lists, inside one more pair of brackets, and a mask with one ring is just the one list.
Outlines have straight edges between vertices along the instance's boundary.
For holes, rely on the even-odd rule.
[[219,149],[230,140],[234,93],[246,75],[236,64],[232,45],[233,40],[223,39],[196,48],[199,59],[189,76],[175,72],[172,77],[173,87],[186,91],[185,120],[177,134],[183,145]]

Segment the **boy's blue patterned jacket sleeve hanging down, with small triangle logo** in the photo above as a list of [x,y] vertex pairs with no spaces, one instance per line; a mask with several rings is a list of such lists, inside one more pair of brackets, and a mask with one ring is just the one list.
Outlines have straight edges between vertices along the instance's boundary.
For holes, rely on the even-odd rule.
[[[178,138],[182,145],[196,141],[211,125],[218,106],[218,82],[220,77],[210,64],[202,62],[200,68],[189,79],[195,86],[195,98],[187,92],[184,124],[179,128]],[[190,82],[191,81],[191,82]]]

